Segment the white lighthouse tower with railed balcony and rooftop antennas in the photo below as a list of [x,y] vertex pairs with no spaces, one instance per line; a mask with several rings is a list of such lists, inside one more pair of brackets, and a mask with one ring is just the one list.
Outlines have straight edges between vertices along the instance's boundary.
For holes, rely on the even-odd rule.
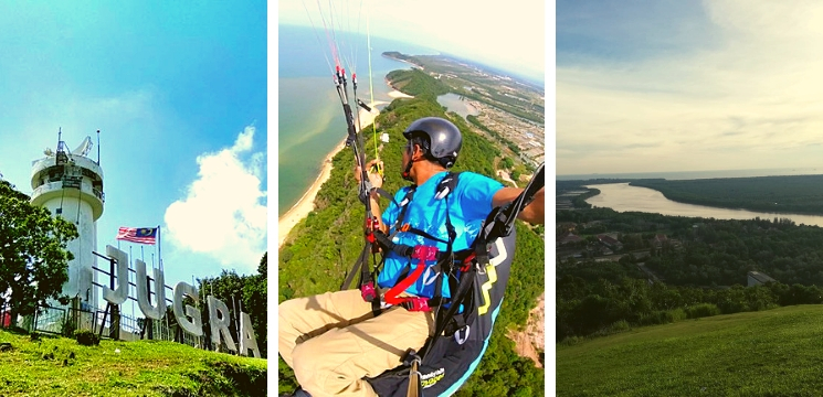
[[[97,131],[99,133],[99,131]],[[74,259],[68,262],[68,281],[63,285],[63,294],[80,298],[81,307],[97,307],[97,294],[92,266],[97,248],[97,219],[103,215],[103,169],[97,161],[86,157],[92,149],[92,139],[86,137],[77,149],[68,151],[65,142],[57,138],[55,151],[45,150],[45,158],[34,160],[31,170],[32,205],[46,207],[52,216],[61,216],[77,227],[78,237],[70,242],[68,251]]]

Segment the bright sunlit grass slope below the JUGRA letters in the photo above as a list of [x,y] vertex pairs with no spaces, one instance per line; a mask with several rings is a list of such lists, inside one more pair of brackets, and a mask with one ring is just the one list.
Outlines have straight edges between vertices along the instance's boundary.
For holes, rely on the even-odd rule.
[[266,361],[173,342],[102,341],[0,331],[0,396],[264,396]]

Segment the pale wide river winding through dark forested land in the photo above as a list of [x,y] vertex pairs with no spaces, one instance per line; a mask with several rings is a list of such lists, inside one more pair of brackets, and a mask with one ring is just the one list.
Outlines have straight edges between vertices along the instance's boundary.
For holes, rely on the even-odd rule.
[[677,203],[666,198],[663,193],[656,190],[630,186],[629,183],[591,184],[585,187],[600,191],[600,194],[590,197],[585,201],[587,203],[618,212],[637,211],[672,216],[713,217],[716,219],[752,219],[755,217],[773,219],[774,217],[781,217],[790,218],[798,225],[823,226],[823,216],[820,215],[761,213]]

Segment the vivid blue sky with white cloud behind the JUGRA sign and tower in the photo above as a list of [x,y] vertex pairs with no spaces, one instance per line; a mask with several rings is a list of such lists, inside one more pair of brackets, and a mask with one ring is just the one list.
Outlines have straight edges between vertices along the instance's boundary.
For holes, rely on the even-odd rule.
[[167,283],[256,271],[267,237],[265,1],[6,1],[0,26],[6,180],[31,193],[31,162],[59,128],[72,149],[86,136],[96,144],[99,129],[99,251],[119,226],[162,225]]

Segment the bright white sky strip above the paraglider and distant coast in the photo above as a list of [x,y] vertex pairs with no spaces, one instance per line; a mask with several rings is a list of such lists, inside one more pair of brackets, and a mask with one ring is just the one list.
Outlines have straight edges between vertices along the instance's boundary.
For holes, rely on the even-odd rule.
[[326,2],[281,0],[278,22],[314,24],[323,32],[319,15],[333,14],[342,30],[365,33],[368,19],[372,35],[434,47],[528,77],[545,74],[547,9],[542,0],[483,4],[474,0],[348,0],[333,4],[335,12]]

